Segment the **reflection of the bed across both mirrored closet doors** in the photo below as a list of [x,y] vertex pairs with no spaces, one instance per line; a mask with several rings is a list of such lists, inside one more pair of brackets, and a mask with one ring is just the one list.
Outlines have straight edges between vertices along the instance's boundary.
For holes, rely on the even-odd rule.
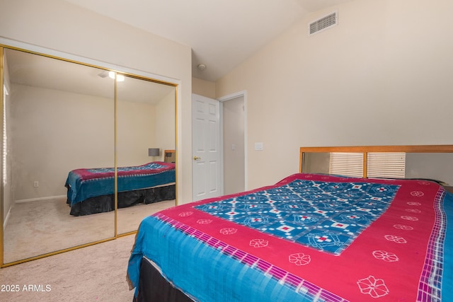
[[[165,161],[117,168],[117,207],[151,204],[176,198],[173,150],[165,151]],[[168,162],[167,162],[168,161]],[[65,182],[67,204],[72,216],[84,216],[115,209],[115,169],[71,170]]]

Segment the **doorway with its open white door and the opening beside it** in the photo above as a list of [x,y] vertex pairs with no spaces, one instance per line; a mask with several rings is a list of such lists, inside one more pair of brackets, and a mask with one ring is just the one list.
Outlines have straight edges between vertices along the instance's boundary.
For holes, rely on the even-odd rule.
[[193,201],[247,189],[246,91],[192,95]]

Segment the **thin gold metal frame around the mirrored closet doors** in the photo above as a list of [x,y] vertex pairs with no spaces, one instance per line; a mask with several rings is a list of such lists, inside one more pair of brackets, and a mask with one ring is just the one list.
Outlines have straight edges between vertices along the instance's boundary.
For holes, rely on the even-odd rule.
[[[32,47],[33,48],[33,47]],[[115,72],[115,92],[114,92],[114,95],[115,95],[115,100],[114,100],[114,107],[115,107],[115,117],[114,117],[114,120],[115,120],[115,129],[114,129],[114,132],[115,132],[115,146],[114,146],[114,169],[115,169],[115,211],[114,211],[114,215],[115,215],[115,226],[114,226],[114,236],[112,237],[108,237],[108,238],[103,238],[101,240],[96,240],[96,241],[93,241],[93,242],[89,242],[89,243],[84,243],[84,244],[78,244],[78,245],[74,245],[74,246],[70,246],[69,248],[63,248],[63,249],[60,249],[60,250],[55,250],[53,252],[46,252],[42,255],[36,255],[36,256],[33,256],[33,257],[27,257],[25,259],[21,259],[21,260],[17,260],[17,261],[12,261],[12,262],[8,262],[8,263],[4,263],[4,186],[2,185],[1,186],[1,189],[0,189],[0,194],[1,194],[1,203],[0,203],[0,221],[1,221],[1,224],[2,224],[2,227],[1,227],[1,230],[0,230],[0,240],[1,240],[1,246],[0,246],[0,259],[1,259],[1,263],[0,263],[0,267],[8,267],[8,266],[11,266],[11,265],[16,265],[16,264],[19,264],[19,263],[23,263],[23,262],[28,262],[30,260],[36,260],[36,259],[40,259],[42,257],[47,257],[47,256],[50,256],[50,255],[55,255],[55,254],[58,254],[58,253],[61,253],[61,252],[67,252],[69,250],[74,250],[74,249],[77,249],[77,248],[84,248],[86,246],[89,246],[89,245],[94,245],[94,244],[97,244],[97,243],[103,243],[105,241],[108,241],[108,240],[113,240],[115,238],[119,238],[119,237],[122,237],[122,236],[127,236],[127,235],[130,235],[130,234],[134,234],[137,232],[137,230],[135,231],[125,231],[124,233],[119,233],[118,232],[118,221],[117,221],[117,168],[118,168],[118,165],[117,165],[117,81],[116,81],[116,77],[117,77],[117,74],[121,74],[122,76],[128,76],[130,78],[133,78],[133,79],[140,79],[140,80],[143,80],[143,81],[148,81],[148,82],[152,82],[152,83],[158,83],[158,84],[161,84],[161,85],[165,85],[165,86],[170,86],[173,88],[173,91],[174,91],[174,118],[175,118],[175,132],[174,132],[174,147],[173,149],[176,149],[176,144],[177,144],[177,134],[176,134],[176,129],[177,129],[177,112],[176,112],[176,108],[177,108],[177,101],[178,101],[178,83],[173,83],[171,81],[166,81],[166,80],[161,80],[161,79],[164,79],[163,77],[161,76],[156,76],[156,78],[160,78],[159,80],[158,79],[154,79],[154,77],[152,75],[149,75],[149,74],[144,74],[143,72],[137,72],[137,74],[134,72],[134,71],[121,71],[121,68],[116,68],[115,66],[110,66],[110,67],[102,67],[101,65],[102,64],[99,64],[99,66],[95,65],[95,64],[91,64],[91,63],[84,63],[84,62],[81,62],[81,61],[84,61],[84,58],[78,58],[78,59],[81,59],[81,61],[76,61],[74,59],[67,59],[65,57],[71,57],[70,55],[66,56],[66,54],[58,54],[59,56],[61,57],[57,57],[55,55],[50,55],[50,54],[45,54],[45,53],[42,53],[42,52],[35,52],[33,50],[25,50],[23,48],[19,48],[19,47],[11,47],[11,46],[8,46],[8,45],[1,45],[0,44],[0,83],[2,83],[2,86],[4,84],[4,50],[17,50],[17,51],[21,51],[21,52],[27,52],[27,53],[30,53],[30,54],[36,54],[36,55],[40,55],[40,56],[43,56],[43,57],[47,57],[47,58],[50,58],[50,59],[58,59],[58,60],[62,60],[64,62],[69,62],[69,63],[73,63],[73,64],[80,64],[80,65],[84,65],[84,66],[89,66],[89,67],[93,67],[93,68],[96,68],[96,69],[102,69],[104,71],[114,71]],[[91,61],[91,60],[88,60],[88,61]],[[144,74],[144,75],[143,75]],[[2,100],[1,102],[1,120],[2,120],[2,125],[3,125],[3,112],[5,110],[5,108],[3,108],[3,99],[4,99],[4,88],[1,87],[1,91],[0,91],[0,99]],[[3,126],[2,126],[3,128]],[[2,141],[3,141],[3,132],[2,132]],[[164,152],[164,149],[162,149],[162,152]],[[2,148],[2,158],[3,158],[3,148]],[[178,154],[176,153],[176,158],[178,158]],[[3,166],[3,164],[2,164]],[[3,179],[4,175],[3,175],[3,169],[1,169],[0,171],[0,176],[1,178]],[[176,178],[176,176],[175,176]],[[177,192],[177,190],[176,190]],[[176,196],[176,199],[175,199],[175,203],[177,204],[177,196]]]

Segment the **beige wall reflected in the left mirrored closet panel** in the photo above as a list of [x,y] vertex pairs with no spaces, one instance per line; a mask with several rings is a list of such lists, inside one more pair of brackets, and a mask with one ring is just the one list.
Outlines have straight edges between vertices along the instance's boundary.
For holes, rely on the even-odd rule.
[[[11,87],[7,124],[13,200],[64,195],[70,170],[113,167],[114,100]],[[33,186],[35,181],[39,187]]]

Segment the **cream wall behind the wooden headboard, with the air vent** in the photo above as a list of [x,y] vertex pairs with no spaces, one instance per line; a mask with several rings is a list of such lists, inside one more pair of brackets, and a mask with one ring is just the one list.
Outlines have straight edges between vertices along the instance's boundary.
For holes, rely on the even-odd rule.
[[[248,188],[299,167],[300,146],[451,144],[451,0],[356,0],[312,13],[216,83],[247,91]],[[263,142],[263,151],[254,151]]]

